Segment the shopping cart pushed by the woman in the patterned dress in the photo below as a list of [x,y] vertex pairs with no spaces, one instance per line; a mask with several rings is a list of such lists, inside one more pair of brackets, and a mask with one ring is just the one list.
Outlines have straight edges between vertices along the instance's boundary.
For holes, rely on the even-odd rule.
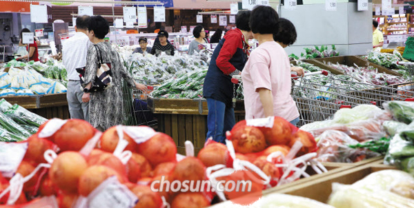
[[124,125],[146,125],[156,128],[158,124],[157,117],[148,108],[147,96],[149,92],[154,90],[153,86],[157,83],[139,79],[135,79],[135,81],[148,85],[148,92],[130,89],[124,81],[122,90],[124,96]]

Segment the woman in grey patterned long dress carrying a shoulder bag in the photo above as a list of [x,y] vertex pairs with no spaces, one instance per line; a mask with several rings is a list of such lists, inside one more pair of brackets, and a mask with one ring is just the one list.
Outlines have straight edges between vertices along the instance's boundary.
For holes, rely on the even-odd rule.
[[[109,23],[101,16],[90,17],[88,22],[88,37],[93,45],[88,49],[86,59],[86,72],[83,78],[85,84],[82,101],[89,103],[89,123],[99,129],[106,129],[122,124],[124,103],[122,101],[122,79],[128,83],[128,86],[135,86],[138,90],[146,91],[146,86],[135,83],[132,76],[124,67],[121,56],[112,48],[110,43],[105,42],[106,34],[109,32]],[[96,46],[96,47],[95,47]],[[112,86],[101,92],[89,92],[92,81],[98,69],[99,56],[103,63],[110,63],[112,72]]]

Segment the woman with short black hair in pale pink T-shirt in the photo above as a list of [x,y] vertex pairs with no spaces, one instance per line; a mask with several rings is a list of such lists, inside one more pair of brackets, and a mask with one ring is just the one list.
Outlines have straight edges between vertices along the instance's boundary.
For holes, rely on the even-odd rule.
[[290,96],[290,63],[273,40],[279,16],[269,6],[257,6],[250,16],[253,37],[259,41],[242,72],[246,119],[280,116],[293,125],[299,112]]

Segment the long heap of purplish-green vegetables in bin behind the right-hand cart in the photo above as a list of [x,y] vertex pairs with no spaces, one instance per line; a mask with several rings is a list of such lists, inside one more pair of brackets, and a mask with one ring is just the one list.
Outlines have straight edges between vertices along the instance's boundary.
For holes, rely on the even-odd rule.
[[407,82],[407,80],[402,76],[380,73],[378,72],[377,68],[373,66],[359,67],[355,65],[355,67],[352,67],[339,63],[328,63],[328,65],[344,72],[345,74],[348,74],[349,76],[353,76],[355,79],[363,83],[369,83],[373,85],[395,85],[398,83]]

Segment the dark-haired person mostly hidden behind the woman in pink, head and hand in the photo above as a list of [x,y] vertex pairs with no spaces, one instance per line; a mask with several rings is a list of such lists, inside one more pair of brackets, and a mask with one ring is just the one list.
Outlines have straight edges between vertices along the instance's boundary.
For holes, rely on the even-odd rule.
[[[286,48],[296,42],[296,28],[291,21],[280,18],[277,23],[277,28],[277,32],[273,34],[273,39],[279,43],[282,48]],[[290,67],[290,71],[296,72],[297,76],[304,75],[304,69],[302,67]]]

